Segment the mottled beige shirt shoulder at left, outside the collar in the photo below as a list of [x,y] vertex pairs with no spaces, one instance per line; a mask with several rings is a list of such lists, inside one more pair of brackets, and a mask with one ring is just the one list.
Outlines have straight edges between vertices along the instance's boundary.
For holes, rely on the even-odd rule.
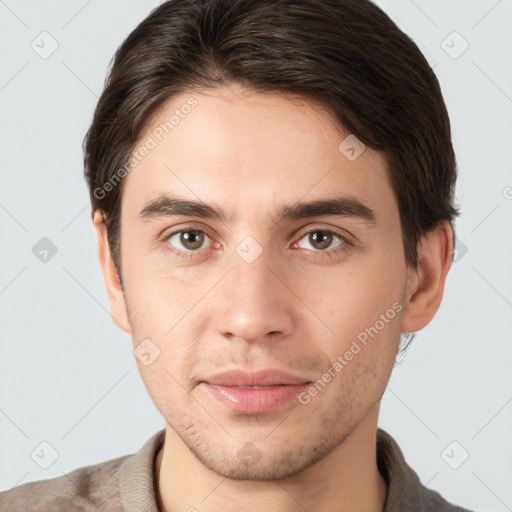
[[88,512],[122,510],[119,468],[125,455],[62,476],[29,482],[0,493],[0,512]]

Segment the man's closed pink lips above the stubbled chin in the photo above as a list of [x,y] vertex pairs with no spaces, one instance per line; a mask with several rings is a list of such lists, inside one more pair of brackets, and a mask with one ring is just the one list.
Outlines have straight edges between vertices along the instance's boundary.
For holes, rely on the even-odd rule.
[[282,407],[310,384],[281,370],[234,370],[207,377],[200,387],[234,412],[264,414]]

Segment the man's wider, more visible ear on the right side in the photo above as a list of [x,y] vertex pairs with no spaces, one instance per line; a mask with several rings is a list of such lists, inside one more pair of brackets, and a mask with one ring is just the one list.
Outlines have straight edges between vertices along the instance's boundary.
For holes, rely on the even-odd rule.
[[432,320],[443,298],[453,258],[453,231],[447,221],[426,233],[418,244],[418,266],[409,267],[402,332],[416,332]]

